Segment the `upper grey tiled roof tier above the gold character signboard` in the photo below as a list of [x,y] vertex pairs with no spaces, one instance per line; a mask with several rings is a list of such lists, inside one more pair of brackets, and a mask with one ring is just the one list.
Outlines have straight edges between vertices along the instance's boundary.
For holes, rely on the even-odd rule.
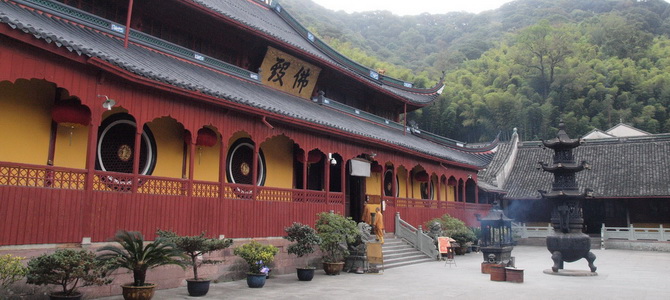
[[[286,44],[302,49],[303,51],[316,56],[327,63],[348,69],[346,65],[343,65],[332,59],[323,53],[323,51],[321,51],[318,47],[314,46],[314,44],[312,44],[305,37],[301,36],[277,13],[275,13],[274,10],[269,9],[268,7],[255,4],[252,1],[240,0],[194,0],[194,2],[219,13],[225,18],[235,20],[236,22],[251,27],[256,31],[263,32],[277,40],[283,41]],[[351,71],[349,75],[363,78],[366,81],[374,82],[374,80],[368,76],[358,74],[354,71]],[[374,84],[378,84],[380,88],[396,94],[410,103],[416,103],[419,105],[430,103],[438,96],[437,93],[413,93],[394,86],[381,84],[379,82]]]

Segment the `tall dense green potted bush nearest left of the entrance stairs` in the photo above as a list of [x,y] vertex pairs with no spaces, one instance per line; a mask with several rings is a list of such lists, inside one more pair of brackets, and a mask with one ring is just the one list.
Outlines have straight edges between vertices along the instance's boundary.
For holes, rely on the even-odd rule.
[[319,247],[323,252],[323,270],[328,275],[338,275],[344,267],[344,258],[349,255],[348,244],[358,237],[358,227],[351,218],[322,212],[316,220],[316,232],[321,238]]

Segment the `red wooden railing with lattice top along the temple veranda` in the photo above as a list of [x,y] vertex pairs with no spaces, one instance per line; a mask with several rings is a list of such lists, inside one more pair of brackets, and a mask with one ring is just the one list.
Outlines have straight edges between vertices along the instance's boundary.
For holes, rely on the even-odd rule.
[[[91,174],[86,188],[85,170],[0,162],[0,245],[80,243],[83,237],[103,242],[119,229],[138,230],[147,238],[158,228],[232,238],[282,236],[294,221],[313,225],[320,212],[345,211],[342,192]],[[385,200],[388,232],[394,231],[395,212],[417,226],[444,213],[470,224],[474,213],[490,209],[472,203]]]

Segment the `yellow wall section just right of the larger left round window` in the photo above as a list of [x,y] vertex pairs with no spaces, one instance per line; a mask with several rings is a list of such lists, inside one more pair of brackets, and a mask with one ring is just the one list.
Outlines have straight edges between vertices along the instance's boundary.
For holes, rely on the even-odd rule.
[[[156,139],[157,149],[156,168],[154,168],[152,175],[181,178],[184,152],[184,128],[172,118],[155,119],[150,122],[148,126]],[[197,163],[198,158],[196,157],[196,164]]]

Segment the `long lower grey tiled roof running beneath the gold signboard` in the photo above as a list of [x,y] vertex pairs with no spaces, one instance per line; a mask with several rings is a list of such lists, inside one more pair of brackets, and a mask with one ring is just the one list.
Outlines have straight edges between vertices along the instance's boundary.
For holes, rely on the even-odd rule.
[[178,88],[199,90],[221,99],[222,104],[240,103],[457,163],[472,166],[488,163],[482,161],[476,153],[444,147],[411,134],[404,135],[400,130],[338,113],[264,85],[203,68],[145,47],[130,44],[125,49],[123,41],[117,38],[8,2],[0,1],[0,23],[80,55],[97,57],[139,76]]

